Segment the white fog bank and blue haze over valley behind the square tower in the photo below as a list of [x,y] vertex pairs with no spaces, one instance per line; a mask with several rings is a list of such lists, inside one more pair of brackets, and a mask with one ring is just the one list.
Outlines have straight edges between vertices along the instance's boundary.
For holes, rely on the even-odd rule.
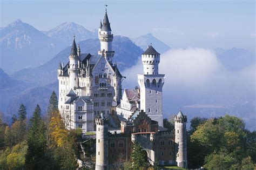
[[[142,72],[141,60],[125,70],[123,89],[138,86],[137,74]],[[172,49],[161,55],[159,73],[166,76],[164,117],[179,110],[189,119],[229,113],[244,119],[248,129],[256,130],[255,64],[239,71],[228,71],[211,50]]]

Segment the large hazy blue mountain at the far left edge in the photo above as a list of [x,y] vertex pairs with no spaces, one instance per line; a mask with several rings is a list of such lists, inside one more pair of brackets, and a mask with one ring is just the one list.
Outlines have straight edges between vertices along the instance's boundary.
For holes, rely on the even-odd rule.
[[12,73],[44,64],[65,45],[17,19],[0,30],[0,46],[0,66]]

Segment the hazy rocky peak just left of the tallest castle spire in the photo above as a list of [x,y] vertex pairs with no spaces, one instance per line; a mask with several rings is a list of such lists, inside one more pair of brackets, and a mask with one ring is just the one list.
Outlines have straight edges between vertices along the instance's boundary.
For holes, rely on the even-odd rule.
[[86,30],[82,25],[78,25],[73,22],[65,22],[56,26],[56,28],[42,32],[53,39],[65,43],[65,45],[70,45],[72,43],[74,34],[76,35],[77,42],[97,37],[95,33]]

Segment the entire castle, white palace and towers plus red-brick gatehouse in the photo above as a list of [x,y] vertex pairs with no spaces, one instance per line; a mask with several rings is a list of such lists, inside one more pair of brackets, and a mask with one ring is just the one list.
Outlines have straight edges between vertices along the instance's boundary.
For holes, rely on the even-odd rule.
[[[75,36],[69,62],[59,63],[58,108],[68,129],[83,133],[96,131],[96,169],[109,169],[122,157],[130,157],[137,141],[147,153],[150,164],[176,164],[187,167],[186,121],[179,112],[175,130],[163,131],[162,90],[165,75],[160,74],[160,53],[152,45],[142,53],[143,74],[138,74],[139,88],[125,89],[125,78],[113,62],[113,34],[107,11],[98,28],[98,55],[80,53]],[[120,133],[109,132],[113,118],[119,119]],[[120,121],[122,120],[123,121]]]

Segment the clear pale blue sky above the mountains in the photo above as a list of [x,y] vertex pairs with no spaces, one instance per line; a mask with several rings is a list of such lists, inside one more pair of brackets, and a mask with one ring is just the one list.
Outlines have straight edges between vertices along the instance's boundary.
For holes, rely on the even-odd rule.
[[38,30],[75,22],[98,28],[105,4],[114,35],[152,33],[172,48],[255,51],[255,1],[2,1],[4,27],[21,19]]

